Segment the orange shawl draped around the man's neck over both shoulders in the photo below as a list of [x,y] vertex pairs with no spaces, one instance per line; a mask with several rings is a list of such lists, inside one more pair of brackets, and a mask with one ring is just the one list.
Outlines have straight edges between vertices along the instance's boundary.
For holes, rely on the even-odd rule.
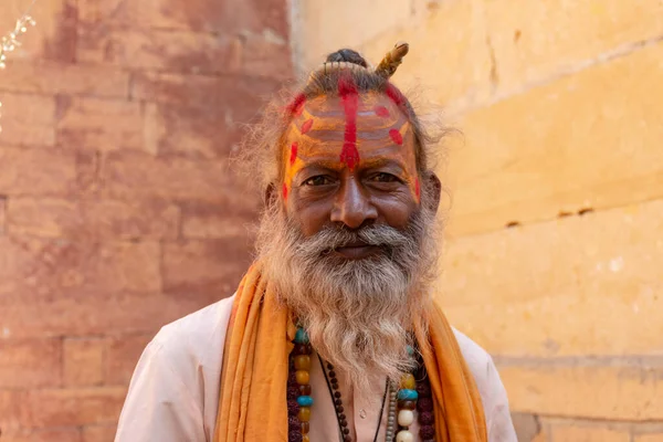
[[[238,288],[228,326],[214,442],[287,441],[286,380],[294,326],[253,265]],[[431,345],[415,330],[431,381],[438,442],[487,442],[481,397],[438,306]],[[314,441],[315,442],[315,441]]]

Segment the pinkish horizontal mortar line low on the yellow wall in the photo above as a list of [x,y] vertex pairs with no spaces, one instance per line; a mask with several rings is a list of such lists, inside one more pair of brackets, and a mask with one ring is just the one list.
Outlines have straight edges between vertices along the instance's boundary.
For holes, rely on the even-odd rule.
[[628,355],[628,356],[504,356],[491,355],[497,367],[523,368],[590,368],[614,367],[646,370],[663,368],[663,355]]

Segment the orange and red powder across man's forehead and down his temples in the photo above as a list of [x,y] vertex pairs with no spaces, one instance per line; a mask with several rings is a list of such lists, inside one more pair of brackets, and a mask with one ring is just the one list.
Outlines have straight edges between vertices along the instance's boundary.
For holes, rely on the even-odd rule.
[[419,200],[414,138],[406,115],[391,97],[358,94],[351,84],[341,86],[345,103],[343,96],[307,99],[301,116],[290,125],[283,145],[284,199],[299,170],[312,161],[340,170],[391,159],[403,167],[401,179]]

